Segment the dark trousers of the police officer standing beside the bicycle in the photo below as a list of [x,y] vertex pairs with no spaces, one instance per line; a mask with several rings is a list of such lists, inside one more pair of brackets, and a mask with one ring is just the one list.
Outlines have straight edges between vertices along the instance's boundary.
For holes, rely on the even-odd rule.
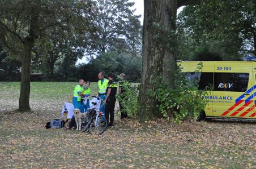
[[114,122],[114,105],[116,104],[116,97],[109,96],[108,100],[106,100],[105,105],[105,118],[106,122],[109,122],[109,115],[110,115],[110,124]]

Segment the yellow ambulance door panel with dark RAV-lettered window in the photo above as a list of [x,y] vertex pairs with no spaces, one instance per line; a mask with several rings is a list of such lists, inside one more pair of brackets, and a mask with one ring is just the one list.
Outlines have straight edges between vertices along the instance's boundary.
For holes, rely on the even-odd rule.
[[253,103],[253,63],[215,63],[212,113],[219,117],[248,117]]

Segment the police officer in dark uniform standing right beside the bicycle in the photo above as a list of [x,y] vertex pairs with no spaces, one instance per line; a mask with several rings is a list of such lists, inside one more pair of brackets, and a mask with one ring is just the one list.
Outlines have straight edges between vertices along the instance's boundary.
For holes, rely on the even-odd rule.
[[[106,91],[105,103],[105,118],[108,126],[113,126],[114,124],[114,106],[116,104],[116,94],[117,94],[117,83],[114,81],[114,74],[110,73],[108,75],[108,88]],[[110,121],[109,121],[110,115]]]

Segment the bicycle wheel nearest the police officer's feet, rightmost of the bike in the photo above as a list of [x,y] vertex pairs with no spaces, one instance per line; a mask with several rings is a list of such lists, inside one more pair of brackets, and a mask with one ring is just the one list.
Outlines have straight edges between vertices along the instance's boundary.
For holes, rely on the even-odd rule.
[[87,124],[87,132],[91,135],[101,135],[106,130],[106,119],[103,115],[91,118]]

